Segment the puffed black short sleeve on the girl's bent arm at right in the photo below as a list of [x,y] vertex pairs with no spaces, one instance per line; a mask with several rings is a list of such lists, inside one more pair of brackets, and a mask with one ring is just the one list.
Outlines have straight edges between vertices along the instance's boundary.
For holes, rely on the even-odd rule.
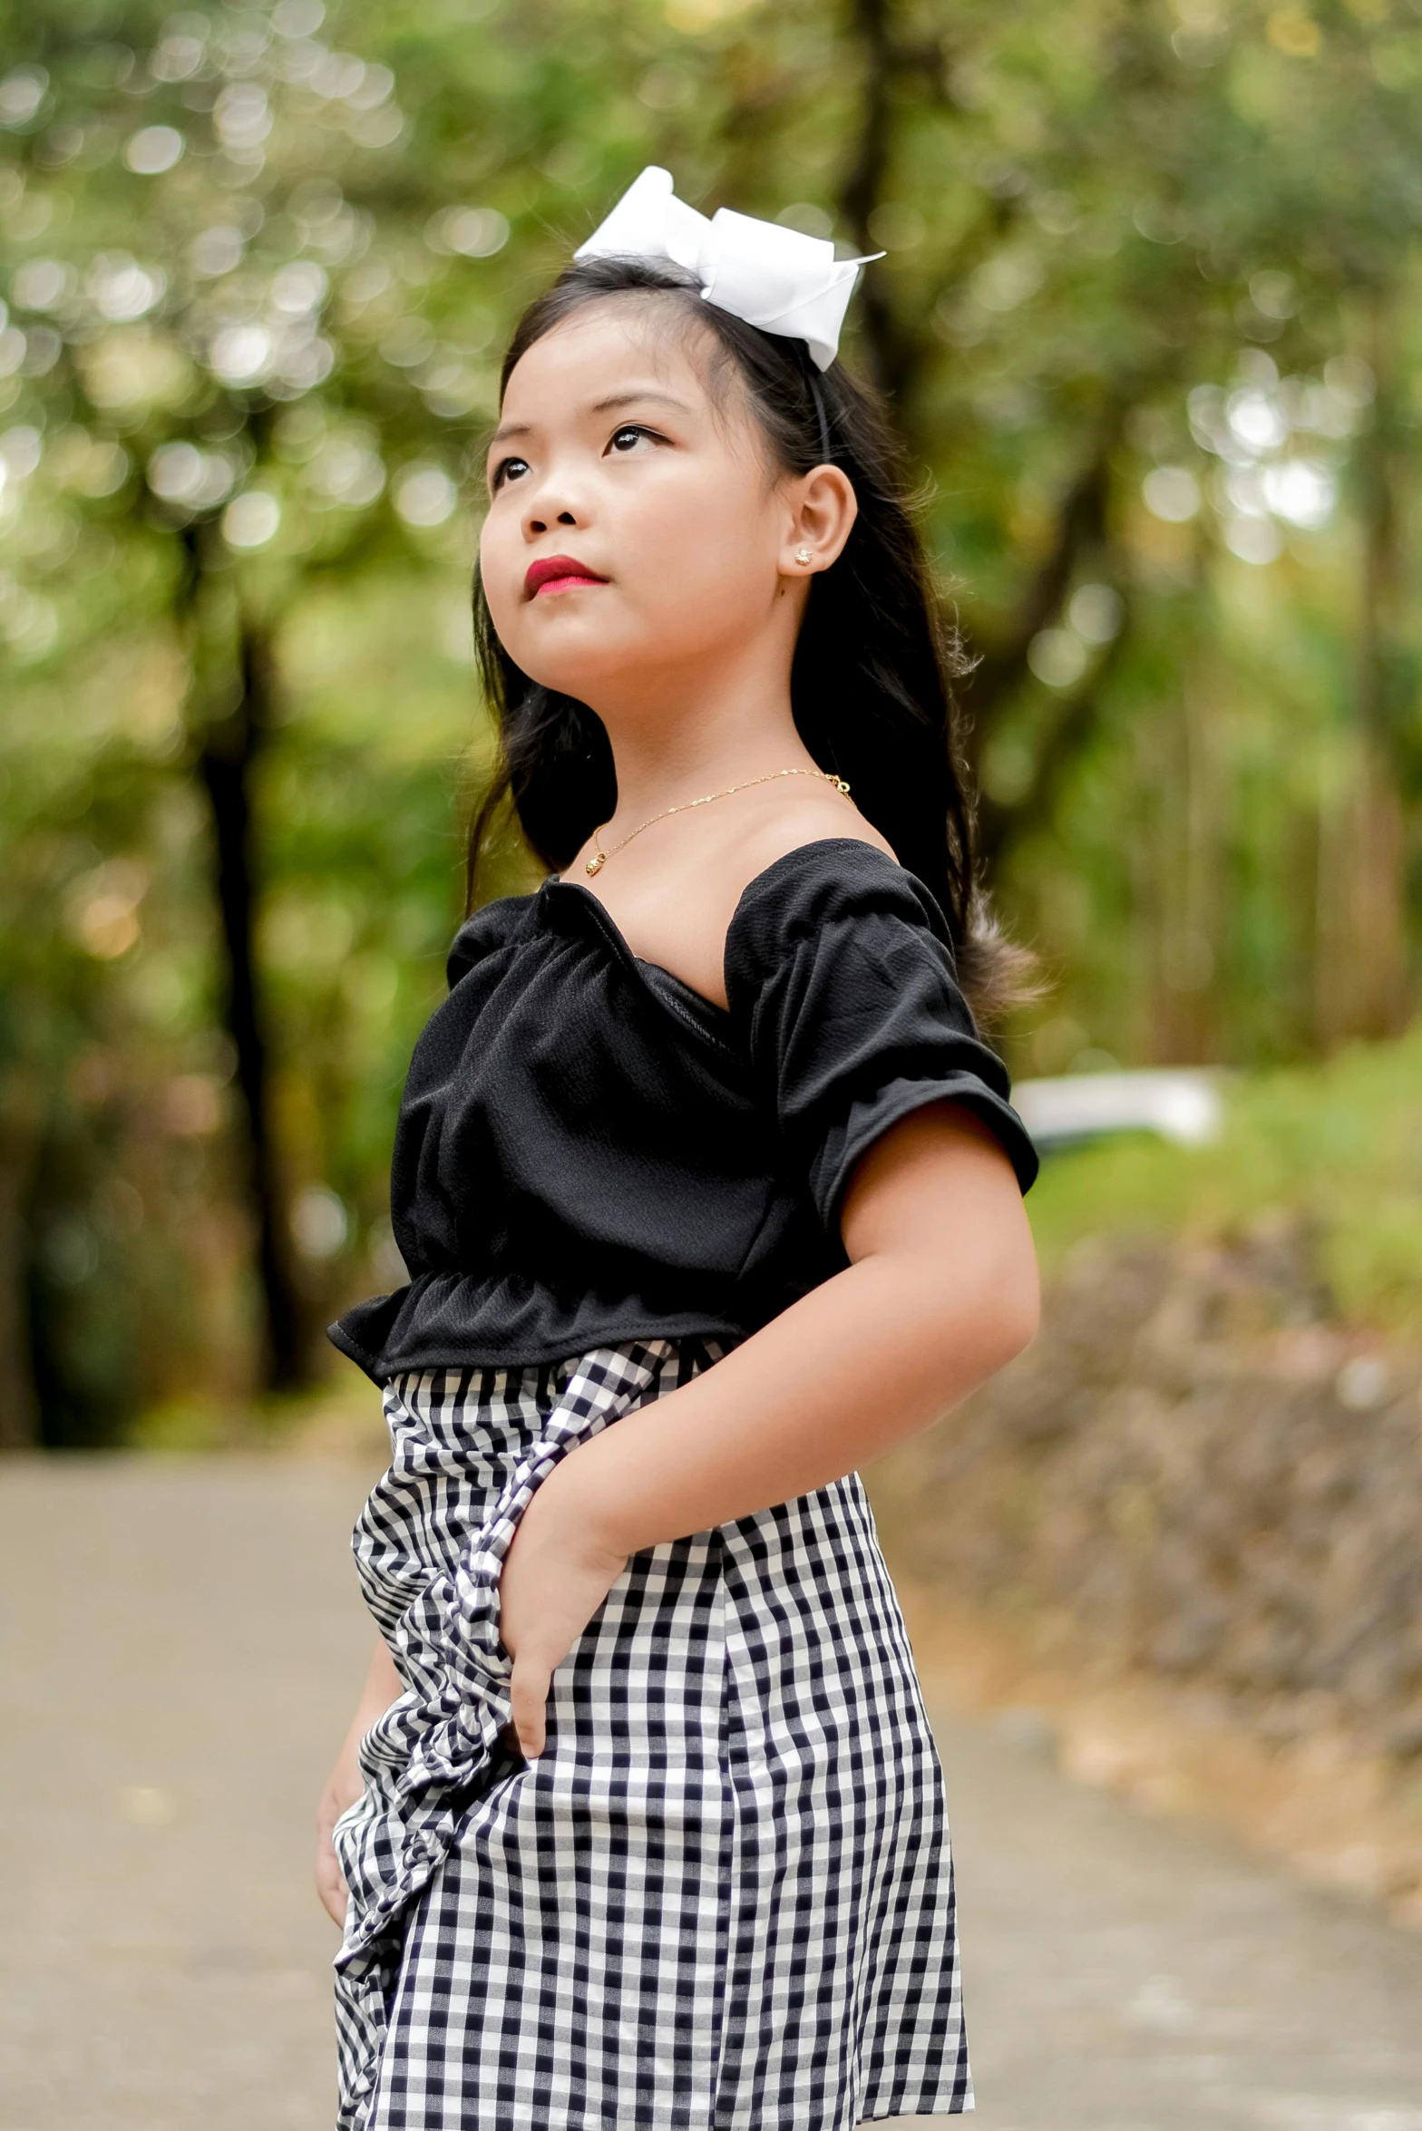
[[942,910],[883,850],[831,837],[757,874],[727,929],[725,985],[825,1227],[859,1155],[930,1102],[974,1110],[1028,1191],[1036,1149],[957,985]]

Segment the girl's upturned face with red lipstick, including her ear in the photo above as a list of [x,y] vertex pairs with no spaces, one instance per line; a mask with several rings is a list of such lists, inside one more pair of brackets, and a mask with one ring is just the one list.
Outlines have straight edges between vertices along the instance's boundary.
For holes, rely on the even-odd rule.
[[[488,450],[480,573],[499,641],[593,707],[802,605],[776,614],[785,580],[806,578],[793,550],[814,477],[778,477],[742,396],[714,405],[701,349],[659,324],[610,298],[554,326],[514,367]],[[849,490],[838,552],[853,490],[831,477]]]

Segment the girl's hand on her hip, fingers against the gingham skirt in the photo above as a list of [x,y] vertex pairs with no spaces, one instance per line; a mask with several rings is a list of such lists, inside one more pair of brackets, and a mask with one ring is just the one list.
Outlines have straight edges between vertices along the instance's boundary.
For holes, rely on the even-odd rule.
[[554,1666],[627,1566],[627,1556],[554,1485],[561,1470],[548,1475],[518,1519],[499,1577],[499,1634],[514,1660],[514,1733],[527,1760],[544,1752]]

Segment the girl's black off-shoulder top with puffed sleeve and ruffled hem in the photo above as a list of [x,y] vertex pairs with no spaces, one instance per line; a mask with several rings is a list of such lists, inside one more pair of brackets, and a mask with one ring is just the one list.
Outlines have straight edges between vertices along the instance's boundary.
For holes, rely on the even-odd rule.
[[840,1272],[840,1198],[900,1117],[953,1097],[1036,1151],[957,987],[934,895],[853,837],[740,897],[727,1008],[642,961],[550,876],[456,933],[401,1102],[409,1285],[330,1325],[375,1383],[629,1338],[736,1343]]

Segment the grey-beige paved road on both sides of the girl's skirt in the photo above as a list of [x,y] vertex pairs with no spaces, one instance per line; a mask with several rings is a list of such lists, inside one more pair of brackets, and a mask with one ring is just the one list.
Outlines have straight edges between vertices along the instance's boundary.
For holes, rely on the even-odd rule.
[[[328,2131],[307,1831],[371,1479],[0,1466],[2,2131]],[[1422,1935],[936,1726],[983,2131],[1422,2131]]]

